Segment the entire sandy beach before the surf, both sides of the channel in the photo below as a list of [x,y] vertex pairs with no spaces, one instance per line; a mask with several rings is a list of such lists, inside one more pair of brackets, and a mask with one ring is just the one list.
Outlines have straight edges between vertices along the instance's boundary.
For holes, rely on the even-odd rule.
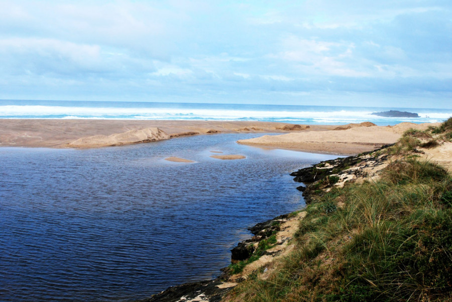
[[[0,119],[0,146],[90,148],[216,133],[254,132],[239,143],[307,152],[353,155],[393,143],[409,128],[430,123],[375,126],[298,125],[256,121]],[[264,135],[265,133],[287,133]]]

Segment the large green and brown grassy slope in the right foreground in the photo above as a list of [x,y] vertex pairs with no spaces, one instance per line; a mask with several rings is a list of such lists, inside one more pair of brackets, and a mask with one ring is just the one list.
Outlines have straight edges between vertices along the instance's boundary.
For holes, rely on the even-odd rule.
[[452,298],[452,179],[432,163],[392,163],[375,183],[332,189],[306,207],[296,248],[232,300]]

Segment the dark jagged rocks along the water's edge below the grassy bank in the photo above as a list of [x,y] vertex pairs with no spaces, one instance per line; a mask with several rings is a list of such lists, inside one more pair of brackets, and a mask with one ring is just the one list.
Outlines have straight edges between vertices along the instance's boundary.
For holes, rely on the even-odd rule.
[[[386,148],[385,145],[380,149]],[[292,172],[295,182],[303,183],[305,186],[299,186],[297,189],[303,192],[306,204],[315,200],[316,196],[320,196],[323,192],[328,191],[332,186],[342,187],[347,181],[356,181],[359,179],[369,179],[378,174],[378,171],[387,162],[387,153],[379,152],[380,149],[350,156],[346,158],[337,158],[320,162],[316,165],[300,169]],[[253,236],[250,239],[239,242],[236,247],[231,250],[231,262],[238,263],[246,261],[250,257],[261,257],[264,255],[274,256],[280,250],[272,251],[271,249],[259,249],[259,243],[268,240],[278,232],[282,231],[281,226],[284,222],[293,217],[294,214],[284,214],[265,222],[257,223],[249,228]],[[291,238],[286,238],[289,240]],[[274,243],[281,245],[283,242],[279,240]],[[284,241],[284,240],[283,240]],[[150,298],[142,299],[141,302],[174,302],[174,301],[220,301],[228,291],[234,288],[238,282],[245,277],[232,278],[233,272],[230,267],[221,269],[222,274],[213,280],[203,280],[198,282],[184,283],[181,285],[171,286],[164,291],[153,295]]]

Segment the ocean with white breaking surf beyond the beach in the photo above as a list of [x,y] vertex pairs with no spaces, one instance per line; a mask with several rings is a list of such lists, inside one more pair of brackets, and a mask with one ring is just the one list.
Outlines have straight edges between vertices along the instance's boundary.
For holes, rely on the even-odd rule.
[[[420,117],[371,115],[372,112],[388,110],[414,112]],[[400,122],[442,122],[450,116],[452,109],[441,108],[0,100],[0,118],[256,120],[300,124],[371,121],[377,125],[394,125]]]

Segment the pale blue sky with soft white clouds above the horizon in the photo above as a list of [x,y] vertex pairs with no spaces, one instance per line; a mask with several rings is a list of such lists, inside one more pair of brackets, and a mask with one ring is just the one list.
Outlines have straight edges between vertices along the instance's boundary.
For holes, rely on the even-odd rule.
[[452,108],[452,1],[3,1],[0,99]]

